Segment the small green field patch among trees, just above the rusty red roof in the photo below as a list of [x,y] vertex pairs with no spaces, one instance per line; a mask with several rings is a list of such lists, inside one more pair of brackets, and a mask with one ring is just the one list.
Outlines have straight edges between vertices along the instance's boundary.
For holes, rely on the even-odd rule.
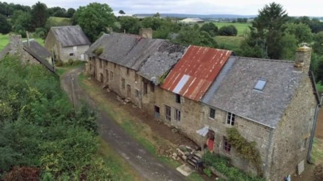
[[214,37],[216,42],[222,47],[221,45],[224,45],[224,48],[233,50],[236,48],[239,48],[241,41],[244,40],[244,37],[232,37],[232,36],[216,36]]

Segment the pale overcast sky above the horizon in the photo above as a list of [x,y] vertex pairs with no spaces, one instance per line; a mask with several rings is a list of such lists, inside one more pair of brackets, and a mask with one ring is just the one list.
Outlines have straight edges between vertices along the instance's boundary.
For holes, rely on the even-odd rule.
[[[2,0],[3,1],[3,0]],[[6,2],[33,5],[38,0],[4,0]],[[181,14],[234,14],[257,15],[258,10],[273,0],[40,0],[48,7],[60,6],[77,9],[90,2],[107,3],[115,12],[181,13]],[[276,0],[283,5],[289,16],[323,17],[323,0]]]

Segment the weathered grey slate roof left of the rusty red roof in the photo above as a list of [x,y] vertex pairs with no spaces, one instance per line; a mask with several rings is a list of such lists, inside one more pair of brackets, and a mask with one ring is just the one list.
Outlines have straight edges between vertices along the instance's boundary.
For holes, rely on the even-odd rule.
[[138,71],[142,77],[159,83],[157,77],[168,71],[183,55],[185,46],[173,44],[167,40],[144,39],[138,35],[123,33],[104,34],[86,51],[102,48],[98,56],[116,64]]

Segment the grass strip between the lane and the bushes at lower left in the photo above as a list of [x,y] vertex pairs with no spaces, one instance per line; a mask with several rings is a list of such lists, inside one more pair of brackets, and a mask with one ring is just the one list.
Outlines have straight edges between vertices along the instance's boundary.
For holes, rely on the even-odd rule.
[[112,173],[114,181],[140,181],[140,177],[133,168],[123,160],[102,138],[99,141],[99,156]]

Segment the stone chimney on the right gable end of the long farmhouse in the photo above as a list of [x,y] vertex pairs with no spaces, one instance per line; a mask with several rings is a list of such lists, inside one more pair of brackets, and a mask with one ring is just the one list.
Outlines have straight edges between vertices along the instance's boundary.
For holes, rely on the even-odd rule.
[[311,63],[311,52],[312,48],[307,46],[299,47],[296,50],[296,58],[295,58],[295,64],[294,66],[302,71],[303,73],[309,72],[309,67]]

